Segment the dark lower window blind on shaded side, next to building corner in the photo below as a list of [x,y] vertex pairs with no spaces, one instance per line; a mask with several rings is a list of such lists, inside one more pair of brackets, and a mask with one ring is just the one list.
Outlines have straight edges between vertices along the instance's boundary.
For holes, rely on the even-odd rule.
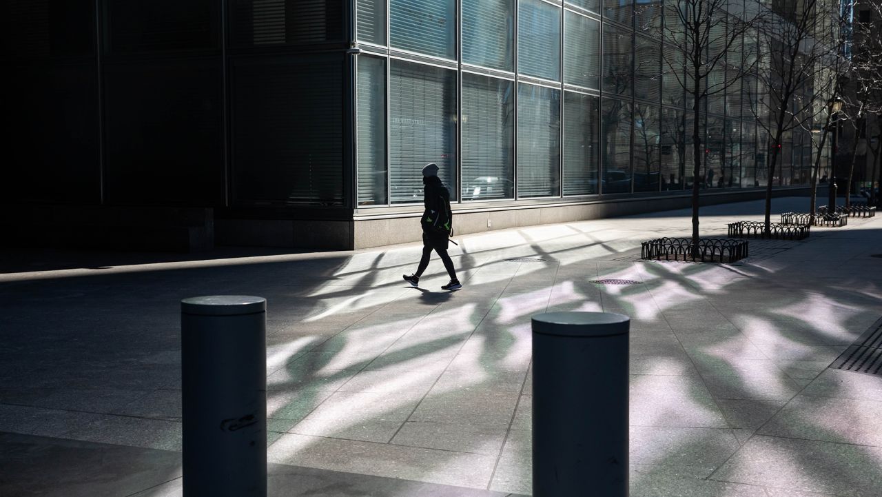
[[342,76],[337,56],[234,62],[235,200],[342,203]]

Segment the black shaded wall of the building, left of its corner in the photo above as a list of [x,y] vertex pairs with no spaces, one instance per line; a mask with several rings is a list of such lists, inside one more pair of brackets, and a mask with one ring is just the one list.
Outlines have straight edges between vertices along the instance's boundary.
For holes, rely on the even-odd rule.
[[0,202],[344,216],[344,4],[4,0]]

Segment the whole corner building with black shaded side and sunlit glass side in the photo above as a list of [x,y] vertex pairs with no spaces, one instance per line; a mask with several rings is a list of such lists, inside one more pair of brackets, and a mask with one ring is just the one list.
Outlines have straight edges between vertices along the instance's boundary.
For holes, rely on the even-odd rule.
[[[744,78],[687,110],[660,1],[6,0],[2,222],[33,243],[361,248],[756,198]],[[745,36],[741,43],[751,43]],[[739,50],[738,56],[748,50]],[[716,77],[736,72],[733,58]],[[703,174],[691,177],[699,118]],[[780,190],[808,183],[809,140]],[[714,172],[711,173],[710,171]]]

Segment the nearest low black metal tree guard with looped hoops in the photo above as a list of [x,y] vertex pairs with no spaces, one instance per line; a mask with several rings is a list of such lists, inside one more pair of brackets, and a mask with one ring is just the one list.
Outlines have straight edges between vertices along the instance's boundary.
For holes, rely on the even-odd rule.
[[640,259],[692,260],[695,262],[735,262],[747,257],[746,240],[700,238],[698,256],[692,256],[691,238],[656,238],[643,242]]

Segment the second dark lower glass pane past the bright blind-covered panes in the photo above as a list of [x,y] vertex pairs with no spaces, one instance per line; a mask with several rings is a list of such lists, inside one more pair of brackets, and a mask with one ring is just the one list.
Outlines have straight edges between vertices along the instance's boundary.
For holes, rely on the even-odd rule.
[[654,105],[634,105],[634,192],[658,192],[660,189],[659,109]]

